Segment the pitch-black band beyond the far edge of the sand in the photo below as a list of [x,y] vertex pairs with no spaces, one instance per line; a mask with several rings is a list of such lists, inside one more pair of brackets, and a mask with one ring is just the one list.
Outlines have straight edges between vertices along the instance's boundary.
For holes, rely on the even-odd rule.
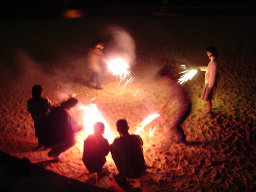
[[[186,11],[178,13],[183,15],[255,15],[255,5],[248,0],[2,0],[0,19],[53,18],[65,9],[82,9],[89,13],[88,15],[102,16],[113,14],[111,11],[113,7],[118,7],[118,9],[115,8],[115,15],[145,15],[154,9],[174,12],[175,7],[186,7]],[[198,7],[203,9],[197,9]],[[212,9],[220,7],[232,8],[232,10],[216,12],[216,9]]]

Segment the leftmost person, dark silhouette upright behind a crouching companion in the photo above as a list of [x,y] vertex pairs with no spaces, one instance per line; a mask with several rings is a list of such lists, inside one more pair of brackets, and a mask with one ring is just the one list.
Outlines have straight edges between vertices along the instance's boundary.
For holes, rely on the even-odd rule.
[[51,110],[57,106],[57,104],[51,103],[48,98],[43,98],[43,95],[44,90],[40,84],[35,84],[32,87],[32,98],[27,101],[27,110],[34,121],[35,136],[38,139],[38,146],[34,150],[43,146],[39,139],[40,133],[44,131],[43,123],[46,121]]

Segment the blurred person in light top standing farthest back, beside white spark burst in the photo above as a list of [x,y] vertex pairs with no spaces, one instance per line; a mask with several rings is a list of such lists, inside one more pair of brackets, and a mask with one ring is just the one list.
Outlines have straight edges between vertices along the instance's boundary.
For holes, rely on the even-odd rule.
[[102,81],[102,67],[101,62],[104,60],[103,50],[104,45],[100,40],[96,40],[88,52],[88,67],[92,70],[89,83],[93,83],[97,77],[96,89],[100,90]]

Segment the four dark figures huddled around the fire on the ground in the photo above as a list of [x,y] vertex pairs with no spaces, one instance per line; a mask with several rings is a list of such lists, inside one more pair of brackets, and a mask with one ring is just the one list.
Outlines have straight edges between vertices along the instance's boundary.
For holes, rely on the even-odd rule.
[[[34,120],[35,136],[38,146],[49,149],[48,156],[57,161],[64,157],[61,153],[76,144],[75,134],[83,128],[69,115],[69,111],[78,103],[76,98],[69,98],[60,105],[53,104],[43,97],[43,90],[39,84],[32,87],[32,98],[27,101],[28,112]],[[84,140],[82,161],[89,173],[104,173],[108,168],[104,166],[105,156],[111,152],[118,172],[113,175],[116,180],[125,181],[126,178],[135,179],[142,176],[147,166],[143,155],[143,141],[139,135],[129,134],[129,126],[125,119],[116,122],[120,137],[112,144],[103,137],[105,126],[102,122],[93,125],[94,134]]]

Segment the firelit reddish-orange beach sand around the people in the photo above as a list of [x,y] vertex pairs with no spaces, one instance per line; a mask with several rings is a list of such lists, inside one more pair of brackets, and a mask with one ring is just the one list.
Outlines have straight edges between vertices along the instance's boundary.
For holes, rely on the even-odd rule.
[[[79,19],[1,20],[1,127],[0,150],[11,156],[28,158],[31,163],[54,173],[111,191],[255,191],[255,16],[109,16]],[[103,90],[86,84],[90,77],[87,52],[107,24],[115,24],[131,34],[136,42],[136,60],[131,67],[133,82],[123,90],[123,82],[110,71],[103,74]],[[199,97],[204,72],[184,84],[193,104],[183,123],[188,145],[172,143],[161,151],[177,108],[170,102],[163,113],[140,133],[144,145],[146,173],[120,186],[113,178],[117,170],[111,154],[108,173],[95,180],[82,162],[86,131],[77,134],[77,144],[52,161],[37,146],[33,120],[26,101],[31,88],[41,84],[44,96],[60,103],[77,93],[87,105],[96,97],[98,111],[117,137],[115,122],[125,118],[134,134],[136,126],[156,113],[166,98],[166,86],[156,78],[164,66],[180,65],[196,69],[207,65],[205,49],[219,52],[220,81],[212,114]],[[139,91],[138,91],[139,90]],[[138,92],[137,92],[138,91]],[[137,94],[136,94],[137,92]],[[135,95],[136,94],[136,95]],[[94,102],[95,103],[95,102]],[[152,130],[156,127],[153,135]]]

